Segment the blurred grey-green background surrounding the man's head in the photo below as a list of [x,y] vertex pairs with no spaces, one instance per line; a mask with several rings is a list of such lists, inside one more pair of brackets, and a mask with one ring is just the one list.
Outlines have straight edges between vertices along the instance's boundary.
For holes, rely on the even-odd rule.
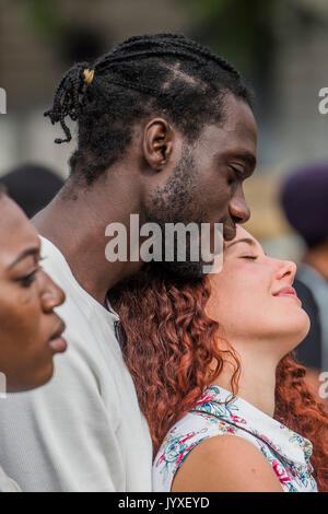
[[56,145],[58,128],[43,113],[74,62],[127,36],[181,32],[231,60],[253,84],[259,163],[246,185],[248,227],[271,255],[297,260],[303,243],[278,202],[281,180],[300,164],[328,162],[325,0],[0,0],[0,177],[36,163],[68,175],[74,142]]

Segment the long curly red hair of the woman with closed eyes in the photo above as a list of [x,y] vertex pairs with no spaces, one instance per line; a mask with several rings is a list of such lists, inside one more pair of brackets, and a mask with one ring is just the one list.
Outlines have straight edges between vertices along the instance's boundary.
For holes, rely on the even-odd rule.
[[[218,376],[231,353],[235,362],[233,393],[241,365],[233,349],[219,350],[219,324],[206,314],[208,279],[184,283],[150,266],[112,290],[120,316],[119,337],[140,408],[153,441],[154,455],[178,419],[185,416]],[[231,359],[230,359],[231,361]],[[305,369],[291,355],[277,369],[274,418],[313,443],[312,465],[320,491],[328,491],[328,413],[305,383]]]

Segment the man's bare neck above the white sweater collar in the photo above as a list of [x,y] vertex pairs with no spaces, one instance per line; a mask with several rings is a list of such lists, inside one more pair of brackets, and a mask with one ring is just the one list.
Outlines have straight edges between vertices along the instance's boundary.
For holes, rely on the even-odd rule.
[[[62,253],[80,285],[102,305],[113,285],[140,269],[139,262],[106,259],[106,226],[112,222],[128,226],[130,209],[138,212],[130,199],[117,202],[117,196],[113,198],[116,201],[110,202],[104,187],[79,190],[72,198],[62,190],[33,219],[40,235]],[[129,206],[128,213],[122,206]]]

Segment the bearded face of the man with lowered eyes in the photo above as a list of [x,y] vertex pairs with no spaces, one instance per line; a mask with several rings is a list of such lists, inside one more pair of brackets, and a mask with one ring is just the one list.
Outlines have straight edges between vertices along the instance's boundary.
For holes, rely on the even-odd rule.
[[[256,165],[257,127],[249,106],[229,95],[222,126],[207,125],[192,147],[183,143],[180,160],[169,178],[153,191],[148,220],[223,224],[225,241],[235,237],[236,223],[249,219],[243,183]],[[187,252],[188,256],[188,252]],[[203,276],[202,261],[161,262],[181,279]]]

